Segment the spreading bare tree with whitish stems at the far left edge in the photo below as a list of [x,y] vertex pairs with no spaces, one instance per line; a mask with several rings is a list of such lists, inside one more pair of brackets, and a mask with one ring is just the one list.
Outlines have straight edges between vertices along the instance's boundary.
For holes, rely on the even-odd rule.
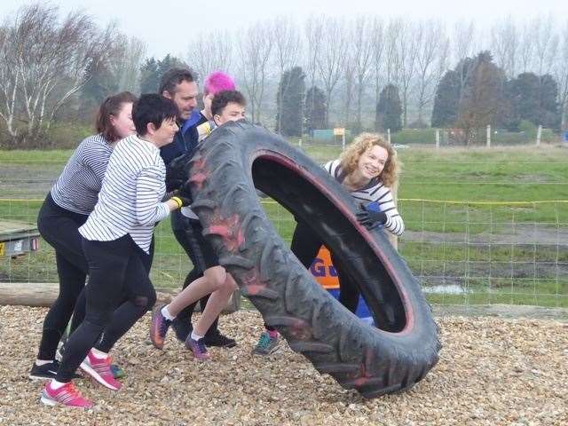
[[[106,60],[114,26],[100,31],[82,12],[59,22],[57,8],[32,4],[22,7],[3,33],[1,116],[13,142],[21,138],[23,146],[50,129],[59,108],[86,83],[87,66]],[[24,129],[14,125],[18,110]]]

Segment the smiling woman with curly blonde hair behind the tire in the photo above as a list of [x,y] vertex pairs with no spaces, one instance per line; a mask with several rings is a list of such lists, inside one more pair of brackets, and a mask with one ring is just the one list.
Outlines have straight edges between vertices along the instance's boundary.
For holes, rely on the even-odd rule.
[[[340,158],[327,162],[324,166],[327,173],[335,177],[359,203],[357,218],[361,225],[368,229],[382,226],[395,235],[402,235],[405,229],[390,192],[398,185],[399,168],[396,151],[388,141],[376,133],[361,133],[353,139]],[[306,268],[312,265],[321,244],[321,239],[312,231],[312,227],[297,220],[291,249]],[[339,302],[351,312],[355,312],[359,303],[359,287],[344,272],[347,269],[342,266],[343,260],[333,253],[331,258],[339,280]],[[279,340],[275,328],[266,324],[264,327],[266,330],[254,350],[254,353],[261,355],[275,351]]]

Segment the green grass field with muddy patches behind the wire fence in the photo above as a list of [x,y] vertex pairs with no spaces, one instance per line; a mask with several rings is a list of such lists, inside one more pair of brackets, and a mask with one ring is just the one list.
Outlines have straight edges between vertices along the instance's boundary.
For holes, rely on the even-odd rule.
[[[304,151],[317,162],[339,154],[335,146]],[[43,199],[71,153],[0,151],[0,199]],[[434,291],[431,301],[568,306],[568,203],[557,202],[568,200],[568,149],[412,147],[399,156],[406,223],[399,252],[425,288],[461,289]],[[0,220],[33,223],[40,205],[0,201]],[[275,203],[264,207],[289,241],[292,217]],[[164,221],[156,230],[155,285],[178,286],[190,267]],[[0,280],[57,280],[51,248],[1,259]]]

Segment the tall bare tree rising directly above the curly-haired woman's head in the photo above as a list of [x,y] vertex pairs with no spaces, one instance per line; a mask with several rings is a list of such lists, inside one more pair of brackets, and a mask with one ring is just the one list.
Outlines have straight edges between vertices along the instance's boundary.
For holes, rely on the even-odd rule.
[[[374,52],[374,21],[360,16],[351,22],[350,36],[349,36],[349,51],[351,58],[349,60],[349,70],[346,70],[345,75],[354,75],[357,82],[357,127],[361,129],[361,111],[363,92],[367,87],[367,82],[372,72],[373,65],[373,52]],[[382,44],[382,31],[381,40]],[[380,46],[383,48],[382,45]],[[379,53],[379,58],[381,54]],[[352,65],[351,65],[352,64]],[[348,84],[349,85],[349,84]],[[349,91],[348,91],[349,93]],[[350,93],[351,94],[351,93]],[[351,98],[348,98],[351,104]]]

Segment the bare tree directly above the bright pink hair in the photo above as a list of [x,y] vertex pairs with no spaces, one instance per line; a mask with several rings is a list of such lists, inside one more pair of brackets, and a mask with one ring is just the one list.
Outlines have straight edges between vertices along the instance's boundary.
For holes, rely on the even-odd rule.
[[228,31],[204,32],[187,48],[187,63],[201,78],[216,70],[228,72],[233,57],[233,36]]

